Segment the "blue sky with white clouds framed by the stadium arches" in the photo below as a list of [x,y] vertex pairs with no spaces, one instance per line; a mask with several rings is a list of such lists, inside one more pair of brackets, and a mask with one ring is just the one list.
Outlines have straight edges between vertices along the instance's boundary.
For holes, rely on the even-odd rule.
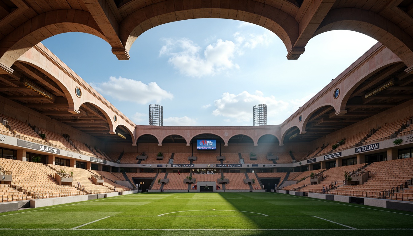
[[135,124],[147,125],[156,103],[164,126],[252,126],[254,105],[267,105],[268,125],[281,124],[376,42],[330,31],[287,60],[280,38],[261,26],[192,19],[146,31],[128,61],[86,33],[42,43]]

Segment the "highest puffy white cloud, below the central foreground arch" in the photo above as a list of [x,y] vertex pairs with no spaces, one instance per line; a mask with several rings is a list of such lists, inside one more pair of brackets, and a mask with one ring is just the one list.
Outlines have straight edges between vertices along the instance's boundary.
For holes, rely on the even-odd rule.
[[236,49],[232,41],[218,39],[216,43],[205,48],[203,55],[201,55],[201,48],[187,38],[165,41],[166,45],[159,51],[159,56],[169,56],[168,62],[181,74],[201,77],[239,68],[232,61]]

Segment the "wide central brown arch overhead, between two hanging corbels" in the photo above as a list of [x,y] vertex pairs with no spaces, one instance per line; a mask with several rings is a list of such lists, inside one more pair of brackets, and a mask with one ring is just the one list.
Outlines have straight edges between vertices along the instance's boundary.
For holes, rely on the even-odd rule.
[[[294,12],[292,9],[297,11],[298,7],[288,1],[282,1],[282,4],[285,5],[282,9],[291,10],[288,11],[289,13],[269,4],[257,3],[254,0],[245,0],[243,3],[221,3],[216,7],[212,6],[213,3],[209,1],[194,1],[191,4],[184,4],[184,2],[184,0],[166,0],[142,7],[128,14],[119,26],[119,38],[125,47],[125,51],[128,53],[138,36],[155,26],[196,18],[235,19],[263,26],[281,38],[287,52],[292,51],[292,47],[299,37],[299,24],[290,15]],[[260,6],[249,6],[255,6],[256,4]],[[128,5],[128,7],[131,7],[131,5]],[[216,15],[212,10],[215,8],[219,8]]]

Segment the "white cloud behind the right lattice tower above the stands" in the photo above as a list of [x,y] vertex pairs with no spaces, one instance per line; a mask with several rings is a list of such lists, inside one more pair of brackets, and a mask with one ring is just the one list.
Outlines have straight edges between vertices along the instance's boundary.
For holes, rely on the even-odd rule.
[[[313,95],[296,100],[276,100],[274,96],[264,96],[261,91],[250,94],[243,91],[240,94],[223,93],[220,99],[214,101],[216,109],[212,112],[215,116],[235,119],[236,122],[252,124],[254,105],[267,105],[267,124],[281,124],[288,116],[304,105]],[[225,119],[229,122],[230,119]]]

